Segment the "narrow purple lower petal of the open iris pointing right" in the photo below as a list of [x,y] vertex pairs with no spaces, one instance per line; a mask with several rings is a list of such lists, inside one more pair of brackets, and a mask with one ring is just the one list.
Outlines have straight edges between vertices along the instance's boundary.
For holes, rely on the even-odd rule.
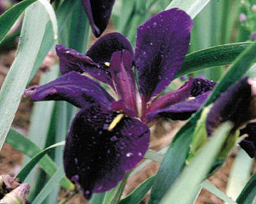
[[195,98],[188,98],[186,101],[175,103],[171,106],[167,106],[164,109],[157,109],[147,114],[147,122],[151,122],[159,118],[170,118],[170,119],[188,119],[195,111],[200,109],[203,103],[211,94],[211,91],[197,95]]

